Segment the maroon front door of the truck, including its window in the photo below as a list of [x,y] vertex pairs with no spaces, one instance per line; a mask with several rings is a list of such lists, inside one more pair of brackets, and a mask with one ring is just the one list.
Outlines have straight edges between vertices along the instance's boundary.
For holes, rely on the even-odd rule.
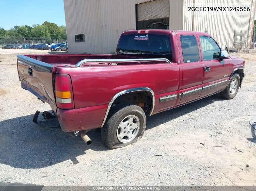
[[221,59],[221,49],[215,40],[209,36],[198,34],[201,46],[201,57],[204,67],[203,91],[204,97],[223,90],[228,83],[229,59]]

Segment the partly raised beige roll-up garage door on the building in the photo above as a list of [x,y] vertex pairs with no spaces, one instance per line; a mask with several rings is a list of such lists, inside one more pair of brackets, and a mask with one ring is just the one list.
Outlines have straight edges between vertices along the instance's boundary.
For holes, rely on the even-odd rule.
[[169,17],[170,0],[155,0],[137,5],[138,21]]

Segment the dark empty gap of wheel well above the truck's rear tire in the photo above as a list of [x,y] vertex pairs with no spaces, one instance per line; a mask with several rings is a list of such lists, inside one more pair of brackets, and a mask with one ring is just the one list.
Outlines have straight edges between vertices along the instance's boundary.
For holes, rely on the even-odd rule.
[[146,114],[149,114],[153,105],[153,95],[149,91],[135,91],[122,94],[112,104],[115,107],[119,103],[134,103],[140,106]]

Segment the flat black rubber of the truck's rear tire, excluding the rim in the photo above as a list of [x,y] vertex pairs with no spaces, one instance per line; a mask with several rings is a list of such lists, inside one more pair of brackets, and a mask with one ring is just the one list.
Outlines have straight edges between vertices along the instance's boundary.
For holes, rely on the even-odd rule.
[[[111,113],[107,121],[101,128],[101,138],[105,145],[110,149],[125,147],[138,141],[142,137],[146,129],[146,115],[141,107],[132,103],[120,103],[113,107],[110,112]],[[138,134],[134,139],[130,142],[122,143],[117,138],[117,129],[121,120],[124,119],[125,116],[129,115],[135,115],[138,117],[140,127],[138,129]]]

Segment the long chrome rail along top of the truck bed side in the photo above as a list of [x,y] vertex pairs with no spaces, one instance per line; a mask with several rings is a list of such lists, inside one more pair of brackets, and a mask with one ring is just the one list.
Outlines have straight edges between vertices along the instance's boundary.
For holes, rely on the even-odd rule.
[[151,58],[151,59],[84,59],[79,61],[74,67],[80,67],[85,63],[95,63],[95,62],[145,62],[145,61],[165,61],[166,63],[170,63],[170,61],[166,58]]

